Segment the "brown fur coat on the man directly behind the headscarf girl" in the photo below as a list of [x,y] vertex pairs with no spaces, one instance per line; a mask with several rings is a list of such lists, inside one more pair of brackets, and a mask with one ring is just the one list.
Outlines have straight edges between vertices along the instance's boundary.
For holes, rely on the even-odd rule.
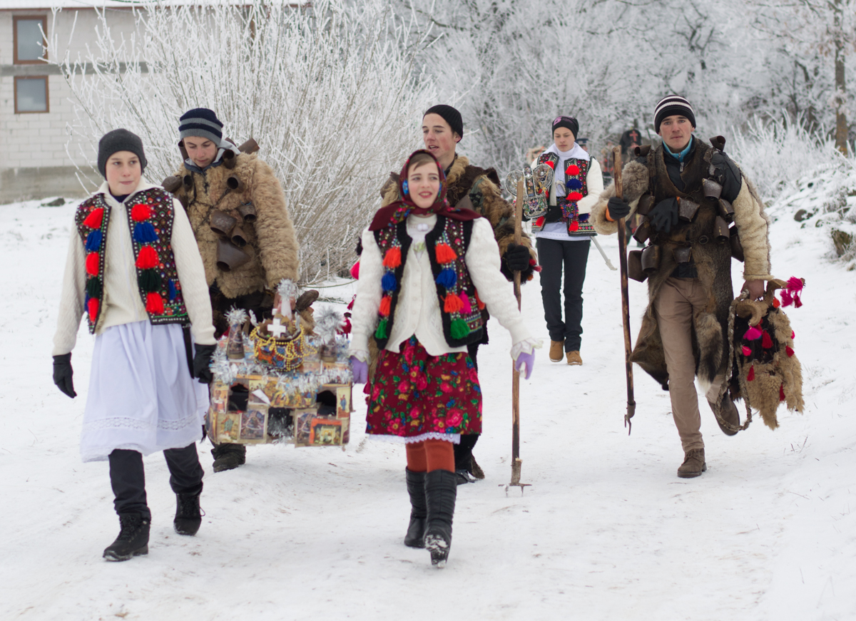
[[[496,170],[480,169],[478,166],[472,166],[467,157],[455,156],[449,174],[446,175],[446,181],[449,188],[446,198],[451,206],[474,210],[490,221],[496,244],[499,245],[499,254],[502,257],[508,250],[508,245],[514,243],[514,205],[502,198],[499,175],[496,174]],[[399,199],[398,173],[389,174],[389,180],[381,189],[381,197],[383,207]],[[532,259],[537,260],[538,255],[532,248],[532,240],[528,235],[523,234],[521,243],[529,248]],[[502,274],[509,281],[514,278],[514,274],[508,270],[505,263],[502,263],[501,269]],[[532,280],[534,270],[535,266],[530,265],[526,271],[520,272],[520,282]]]

